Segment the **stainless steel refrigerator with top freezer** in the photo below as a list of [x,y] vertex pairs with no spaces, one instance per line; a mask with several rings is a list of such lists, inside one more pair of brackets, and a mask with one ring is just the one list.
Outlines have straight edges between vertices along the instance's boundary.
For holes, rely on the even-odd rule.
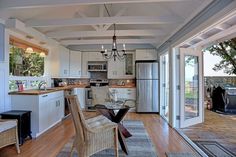
[[159,112],[158,63],[136,63],[137,112]]

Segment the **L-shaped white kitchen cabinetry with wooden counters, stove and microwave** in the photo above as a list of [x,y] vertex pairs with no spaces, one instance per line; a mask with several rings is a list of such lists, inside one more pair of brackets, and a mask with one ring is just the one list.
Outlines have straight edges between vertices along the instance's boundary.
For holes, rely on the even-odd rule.
[[[12,109],[32,111],[32,137],[38,137],[67,117],[69,111],[64,96],[68,93],[78,96],[82,109],[94,111],[90,87],[109,86],[110,92],[115,92],[118,99],[134,100],[130,105],[136,106],[135,63],[153,62],[157,59],[157,53],[155,49],[137,49],[126,53],[128,57],[117,61],[105,60],[100,52],[67,50],[52,54],[52,57],[45,58],[49,61],[52,72],[51,79],[47,79],[47,85],[41,87],[46,90],[29,89],[24,84],[26,90],[9,93]],[[158,68],[158,65],[156,66]],[[158,92],[155,94],[158,97]],[[29,101],[25,102],[26,99]],[[49,101],[53,106],[51,108],[48,108]],[[45,107],[48,108],[47,112],[44,110]],[[159,108],[158,102],[156,108]],[[58,112],[53,112],[55,110]],[[136,112],[136,107],[130,112]]]

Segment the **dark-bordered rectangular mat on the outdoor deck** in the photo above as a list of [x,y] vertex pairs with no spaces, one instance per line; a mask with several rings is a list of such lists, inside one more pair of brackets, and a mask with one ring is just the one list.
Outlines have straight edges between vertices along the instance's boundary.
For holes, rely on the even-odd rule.
[[193,141],[209,157],[235,157],[236,155],[216,141]]

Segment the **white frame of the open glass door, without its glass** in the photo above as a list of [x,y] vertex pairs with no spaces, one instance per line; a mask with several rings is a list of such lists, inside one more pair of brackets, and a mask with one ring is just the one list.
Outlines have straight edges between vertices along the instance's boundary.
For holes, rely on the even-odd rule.
[[[199,76],[199,116],[185,120],[185,56],[192,55],[198,57],[198,76]],[[180,128],[188,127],[204,120],[204,76],[203,76],[203,54],[200,48],[180,48]]]

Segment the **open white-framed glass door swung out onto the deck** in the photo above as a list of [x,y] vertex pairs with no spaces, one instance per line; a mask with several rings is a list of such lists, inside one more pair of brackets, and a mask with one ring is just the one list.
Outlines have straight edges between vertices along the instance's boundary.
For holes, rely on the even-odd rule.
[[202,52],[180,49],[180,127],[203,122]]

